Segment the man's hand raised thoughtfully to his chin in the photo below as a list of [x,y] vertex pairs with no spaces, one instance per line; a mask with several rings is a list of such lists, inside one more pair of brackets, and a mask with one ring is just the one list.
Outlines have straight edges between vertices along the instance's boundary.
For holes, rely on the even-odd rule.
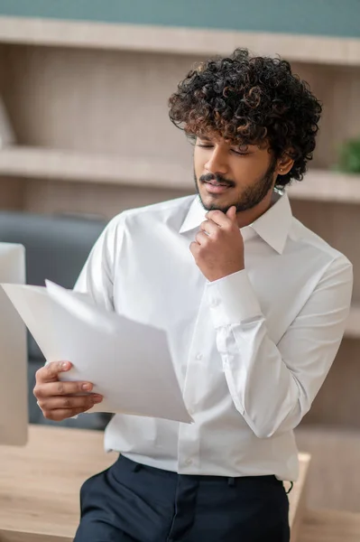
[[212,282],[245,268],[244,241],[237,225],[235,206],[226,214],[210,210],[206,217],[208,220],[202,222],[190,251],[202,274]]

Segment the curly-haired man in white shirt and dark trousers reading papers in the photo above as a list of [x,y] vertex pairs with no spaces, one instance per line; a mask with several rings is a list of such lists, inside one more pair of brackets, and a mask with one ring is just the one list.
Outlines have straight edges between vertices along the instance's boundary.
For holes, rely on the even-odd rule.
[[[168,332],[194,424],[113,417],[106,450],[122,455],[83,485],[77,542],[289,541],[292,430],[336,356],[352,292],[349,261],[292,217],[281,190],[302,180],[320,113],[288,62],[245,50],[191,70],[171,96],[198,194],[115,217],[77,287]],[[60,383],[69,368],[37,374],[54,420],[102,399],[73,395],[91,383]]]

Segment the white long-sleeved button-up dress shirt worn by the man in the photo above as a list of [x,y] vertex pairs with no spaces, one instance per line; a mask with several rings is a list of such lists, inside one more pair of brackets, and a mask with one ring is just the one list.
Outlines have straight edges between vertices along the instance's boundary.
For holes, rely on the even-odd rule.
[[97,304],[168,332],[194,418],[187,425],[117,414],[106,450],[182,474],[295,481],[292,430],[337,354],[351,263],[274,192],[272,207],[241,229],[245,270],[209,283],[189,251],[205,213],[198,196],[125,210],[79,276],[76,288]]

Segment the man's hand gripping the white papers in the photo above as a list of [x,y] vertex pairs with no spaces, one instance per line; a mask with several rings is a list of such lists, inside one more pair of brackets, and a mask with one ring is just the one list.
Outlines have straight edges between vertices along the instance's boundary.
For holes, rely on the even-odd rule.
[[36,372],[33,395],[38,400],[42,414],[50,420],[60,422],[77,416],[103,400],[102,396],[94,393],[75,396],[78,393],[89,393],[93,385],[89,382],[61,382],[59,374],[69,369],[69,361],[52,361]]

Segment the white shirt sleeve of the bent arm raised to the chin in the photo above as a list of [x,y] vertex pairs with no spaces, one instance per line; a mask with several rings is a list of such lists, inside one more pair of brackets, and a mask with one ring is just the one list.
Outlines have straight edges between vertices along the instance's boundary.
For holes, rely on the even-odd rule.
[[245,270],[208,283],[227,386],[259,438],[293,429],[309,411],[343,338],[352,286],[352,265],[338,257],[275,344]]

